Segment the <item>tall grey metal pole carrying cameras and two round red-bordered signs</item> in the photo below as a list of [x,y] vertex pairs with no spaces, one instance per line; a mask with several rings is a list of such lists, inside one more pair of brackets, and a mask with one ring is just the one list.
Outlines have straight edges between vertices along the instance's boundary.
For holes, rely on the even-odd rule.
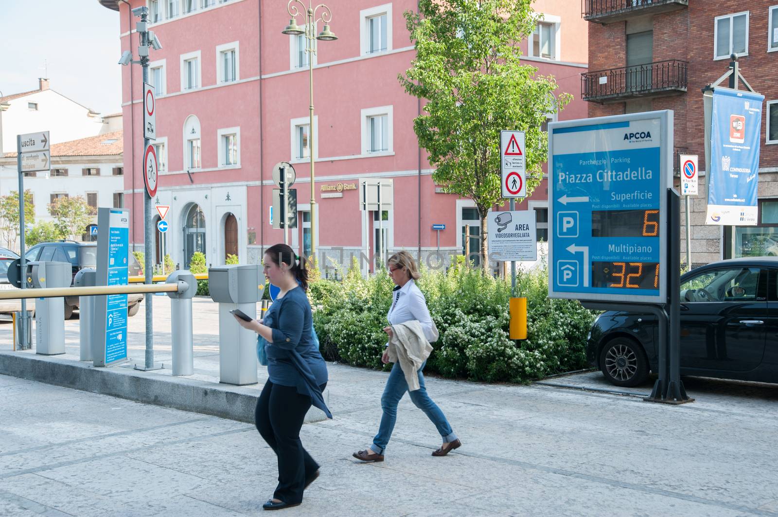
[[[148,12],[142,12],[141,22],[148,23]],[[149,45],[149,33],[141,32],[140,44],[141,47],[147,47]],[[140,56],[141,68],[143,71],[143,82],[149,82],[149,57]],[[142,106],[145,106],[145,99],[143,99]],[[149,147],[149,139],[145,137],[145,128],[143,131],[143,153]],[[143,172],[145,174],[145,170]],[[145,185],[145,184],[144,184]],[[144,266],[143,273],[145,276],[145,284],[151,285],[153,283],[153,259],[154,259],[154,227],[153,227],[153,214],[152,199],[149,196],[148,191],[143,189],[143,253],[144,253]],[[156,370],[159,367],[154,366],[154,313],[153,313],[153,296],[145,297],[146,304],[146,321],[145,321],[145,367],[143,370]]]

